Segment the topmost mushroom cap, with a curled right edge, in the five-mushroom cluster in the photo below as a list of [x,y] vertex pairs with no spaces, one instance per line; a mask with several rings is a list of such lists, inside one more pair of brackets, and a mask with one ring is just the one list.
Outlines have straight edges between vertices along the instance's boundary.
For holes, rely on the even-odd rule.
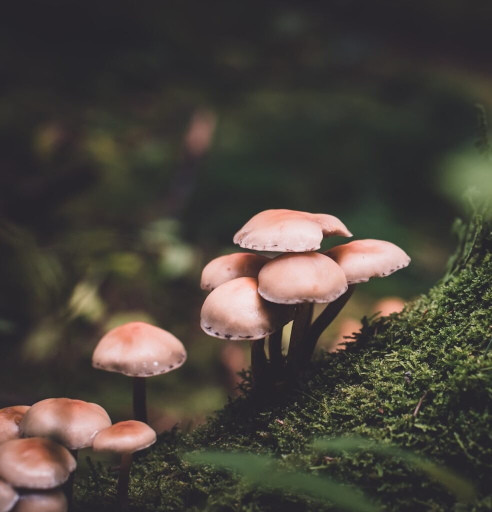
[[246,249],[306,252],[319,249],[324,237],[336,234],[352,236],[345,224],[333,215],[265,210],[252,217],[234,235],[234,243]]

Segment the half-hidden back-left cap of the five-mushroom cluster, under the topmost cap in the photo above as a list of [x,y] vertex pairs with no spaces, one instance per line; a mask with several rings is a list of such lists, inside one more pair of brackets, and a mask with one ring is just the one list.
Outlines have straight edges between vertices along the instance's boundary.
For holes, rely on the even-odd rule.
[[269,258],[251,252],[234,252],[219,256],[209,262],[202,271],[202,290],[212,291],[218,286],[237,278],[257,278],[258,272]]

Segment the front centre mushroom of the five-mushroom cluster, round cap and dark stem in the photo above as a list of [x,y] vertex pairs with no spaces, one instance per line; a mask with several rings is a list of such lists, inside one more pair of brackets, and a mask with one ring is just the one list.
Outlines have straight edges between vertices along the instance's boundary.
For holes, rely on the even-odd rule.
[[302,340],[310,321],[310,306],[335,301],[347,291],[344,271],[319,252],[282,254],[258,275],[258,293],[267,301],[297,304],[287,362],[296,376],[301,367]]

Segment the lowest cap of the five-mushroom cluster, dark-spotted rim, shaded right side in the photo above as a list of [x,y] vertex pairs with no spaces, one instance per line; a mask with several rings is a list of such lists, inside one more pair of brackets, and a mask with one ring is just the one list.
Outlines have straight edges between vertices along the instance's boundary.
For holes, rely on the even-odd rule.
[[213,290],[202,307],[200,325],[222,339],[261,339],[289,323],[295,308],[265,301],[258,280],[238,278]]

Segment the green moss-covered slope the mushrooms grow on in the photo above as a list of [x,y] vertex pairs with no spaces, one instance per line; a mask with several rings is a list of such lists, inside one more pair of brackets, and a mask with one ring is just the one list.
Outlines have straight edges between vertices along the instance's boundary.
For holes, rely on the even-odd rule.
[[[334,510],[293,489],[251,487],[239,476],[193,465],[203,449],[272,454],[287,469],[357,487],[383,510],[492,509],[492,233],[480,217],[463,229],[452,271],[400,314],[365,321],[356,343],[325,354],[281,402],[250,393],[190,435],[171,432],[138,457],[133,510]],[[419,400],[421,406],[414,415]],[[470,479],[476,498],[445,488],[394,458],[324,453],[313,438],[358,435],[391,443]],[[80,510],[112,510],[116,480],[94,468],[79,482]]]

